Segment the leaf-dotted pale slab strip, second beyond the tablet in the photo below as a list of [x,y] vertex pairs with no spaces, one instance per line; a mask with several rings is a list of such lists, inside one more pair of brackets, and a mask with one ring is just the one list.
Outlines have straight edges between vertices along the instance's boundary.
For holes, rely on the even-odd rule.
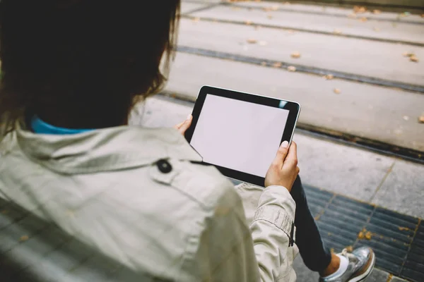
[[[179,45],[424,85],[424,63],[402,55],[411,51],[424,58],[424,47],[188,19],[181,21]],[[300,59],[290,56],[295,51]]]

